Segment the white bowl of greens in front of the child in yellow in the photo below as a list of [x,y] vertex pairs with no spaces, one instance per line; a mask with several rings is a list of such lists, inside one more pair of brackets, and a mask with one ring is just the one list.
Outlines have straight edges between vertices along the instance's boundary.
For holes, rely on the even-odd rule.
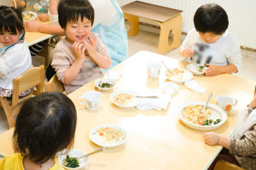
[[83,156],[85,153],[83,150],[80,149],[71,149],[68,152],[59,155],[59,163],[65,169],[82,169],[84,168],[87,163],[89,162],[90,156],[86,156],[80,159],[75,157]]

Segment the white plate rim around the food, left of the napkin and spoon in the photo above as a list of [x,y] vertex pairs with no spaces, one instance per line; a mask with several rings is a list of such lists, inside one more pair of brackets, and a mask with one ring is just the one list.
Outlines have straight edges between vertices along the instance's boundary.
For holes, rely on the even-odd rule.
[[134,95],[139,95],[139,93],[135,92],[135,91],[129,91],[129,90],[119,90],[119,91],[114,91],[110,94],[110,101],[112,103],[114,103],[116,106],[118,107],[121,107],[121,108],[132,108],[132,107],[135,107],[136,105],[140,104],[140,102],[142,101],[142,98],[138,98],[138,97],[135,97],[134,98],[134,101],[132,103],[129,103],[129,104],[118,104],[116,102],[113,101],[113,96],[118,94],[118,93],[129,93],[129,94],[134,94]]

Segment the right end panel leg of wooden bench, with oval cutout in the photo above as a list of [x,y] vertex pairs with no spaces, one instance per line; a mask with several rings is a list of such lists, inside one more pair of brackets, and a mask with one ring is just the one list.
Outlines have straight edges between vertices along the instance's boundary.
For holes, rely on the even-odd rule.
[[[158,22],[160,25],[160,35],[158,43],[158,53],[165,54],[172,48],[180,46],[181,41],[181,29],[182,29],[182,15],[179,14],[165,22]],[[169,33],[172,30],[173,42],[169,44]]]

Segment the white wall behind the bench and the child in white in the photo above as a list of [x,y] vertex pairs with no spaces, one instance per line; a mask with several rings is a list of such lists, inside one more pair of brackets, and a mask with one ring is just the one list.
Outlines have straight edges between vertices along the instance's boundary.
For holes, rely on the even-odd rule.
[[[120,5],[135,0],[117,0]],[[233,33],[244,47],[256,49],[256,0],[140,0],[161,6],[183,10],[182,31],[188,32],[194,27],[193,16],[196,9],[205,3],[217,3],[222,6],[229,19],[228,31]],[[143,19],[140,19],[144,21]],[[148,21],[147,21],[148,22]],[[151,23],[151,22],[150,22]]]

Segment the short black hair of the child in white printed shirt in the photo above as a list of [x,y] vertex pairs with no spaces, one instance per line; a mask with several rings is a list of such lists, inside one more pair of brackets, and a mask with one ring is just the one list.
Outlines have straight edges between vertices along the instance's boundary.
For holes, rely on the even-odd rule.
[[194,25],[199,32],[212,32],[221,35],[228,27],[228,16],[220,5],[204,4],[195,12]]

